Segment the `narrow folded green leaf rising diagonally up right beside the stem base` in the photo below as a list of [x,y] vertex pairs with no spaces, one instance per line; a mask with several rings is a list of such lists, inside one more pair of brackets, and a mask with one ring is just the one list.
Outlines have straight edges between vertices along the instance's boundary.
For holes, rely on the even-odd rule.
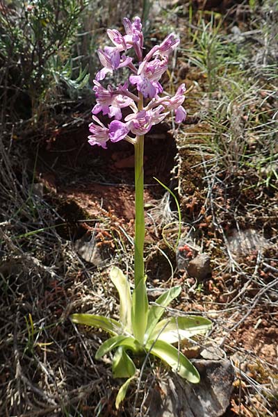
[[173,288],[170,288],[170,290],[166,291],[164,294],[160,295],[158,299],[156,300],[157,305],[152,305],[149,307],[149,314],[148,314],[148,320],[147,320],[147,332],[146,337],[149,338],[149,334],[152,333],[152,330],[158,323],[159,319],[163,315],[165,311],[165,307],[167,307],[174,298],[177,298],[179,294],[181,293],[181,286],[174,286]]

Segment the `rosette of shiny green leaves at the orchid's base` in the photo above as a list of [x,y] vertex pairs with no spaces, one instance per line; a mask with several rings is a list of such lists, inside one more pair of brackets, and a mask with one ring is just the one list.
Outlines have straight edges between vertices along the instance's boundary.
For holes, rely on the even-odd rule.
[[[119,378],[129,378],[120,388],[116,399],[116,407],[118,408],[120,402],[124,400],[126,390],[136,375],[136,366],[127,353],[129,351],[133,355],[153,354],[167,363],[181,377],[197,384],[199,382],[197,369],[171,343],[180,343],[184,339],[188,340],[197,334],[206,333],[211,328],[211,321],[201,316],[165,318],[159,321],[163,316],[165,307],[181,292],[181,287],[176,286],[158,297],[154,305],[148,305],[147,317],[144,320],[147,322],[147,327],[144,340],[140,341],[135,336],[134,323],[131,323],[130,320],[134,298],[131,302],[129,283],[122,271],[116,267],[111,269],[111,279],[120,296],[120,321],[117,322],[111,318],[90,314],[73,314],[72,321],[79,325],[101,327],[113,335],[99,347],[96,358],[100,359],[111,350],[115,350],[112,366],[113,375]],[[138,313],[140,318],[144,316],[144,306]]]

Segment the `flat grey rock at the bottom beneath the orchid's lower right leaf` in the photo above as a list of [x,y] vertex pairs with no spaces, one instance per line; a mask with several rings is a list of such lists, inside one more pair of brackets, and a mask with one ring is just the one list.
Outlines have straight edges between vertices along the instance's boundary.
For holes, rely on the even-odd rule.
[[199,384],[190,384],[177,374],[161,382],[150,398],[149,416],[152,417],[220,417],[229,406],[234,368],[227,359],[193,361],[199,371]]

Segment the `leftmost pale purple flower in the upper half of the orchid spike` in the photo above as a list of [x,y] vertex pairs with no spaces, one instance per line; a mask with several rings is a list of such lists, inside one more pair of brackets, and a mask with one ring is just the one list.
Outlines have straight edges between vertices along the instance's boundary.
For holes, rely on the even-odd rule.
[[120,50],[118,47],[105,47],[104,51],[98,49],[97,54],[101,64],[104,66],[102,70],[97,72],[97,81],[103,80],[108,72],[113,74],[113,70],[126,67],[126,65],[129,65],[129,63],[132,61],[132,58],[128,58],[124,55],[121,58]]

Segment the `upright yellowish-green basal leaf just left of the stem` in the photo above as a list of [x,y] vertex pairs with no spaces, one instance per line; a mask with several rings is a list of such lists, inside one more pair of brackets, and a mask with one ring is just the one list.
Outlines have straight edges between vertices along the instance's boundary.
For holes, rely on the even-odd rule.
[[126,275],[117,268],[113,266],[110,271],[111,281],[117,288],[117,292],[120,296],[120,321],[124,328],[131,332],[131,291],[129,287],[129,281],[127,280]]

